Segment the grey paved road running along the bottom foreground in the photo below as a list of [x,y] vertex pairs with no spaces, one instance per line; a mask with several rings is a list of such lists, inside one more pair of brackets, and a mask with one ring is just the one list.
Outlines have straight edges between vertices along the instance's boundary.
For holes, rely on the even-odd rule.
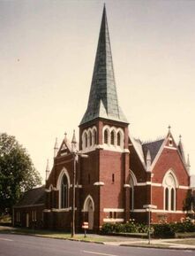
[[190,250],[147,249],[0,234],[0,256],[194,256]]

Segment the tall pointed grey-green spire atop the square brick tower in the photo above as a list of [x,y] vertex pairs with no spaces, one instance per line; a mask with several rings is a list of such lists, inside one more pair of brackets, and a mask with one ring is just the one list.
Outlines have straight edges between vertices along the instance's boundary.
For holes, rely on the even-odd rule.
[[101,19],[101,30],[94,62],[94,74],[88,105],[80,124],[84,124],[96,118],[118,120],[128,123],[118,105],[105,5]]

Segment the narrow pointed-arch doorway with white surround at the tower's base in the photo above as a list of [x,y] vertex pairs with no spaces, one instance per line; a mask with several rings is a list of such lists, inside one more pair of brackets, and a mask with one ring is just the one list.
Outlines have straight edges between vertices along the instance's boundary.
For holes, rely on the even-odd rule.
[[94,200],[91,196],[88,196],[85,200],[84,212],[89,229],[94,229]]

